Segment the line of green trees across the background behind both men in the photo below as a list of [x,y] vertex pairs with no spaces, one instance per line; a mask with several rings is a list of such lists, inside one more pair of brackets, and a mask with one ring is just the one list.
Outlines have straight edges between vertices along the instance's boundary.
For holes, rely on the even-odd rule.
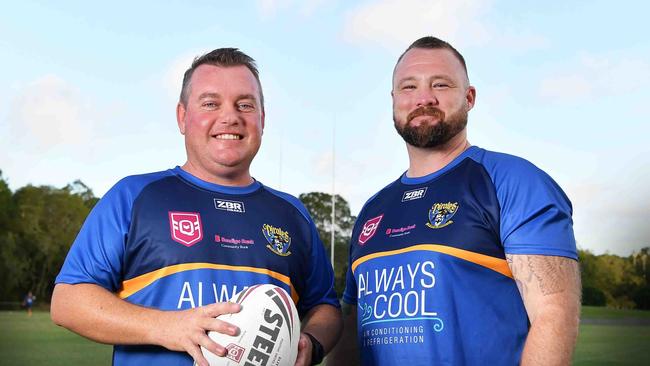
[[[341,295],[356,217],[339,195],[334,225],[330,194],[304,193],[299,199],[312,215],[328,256],[334,230],[335,288]],[[63,188],[27,185],[12,192],[0,171],[0,302],[20,302],[30,290],[45,299],[41,302],[49,301],[70,245],[98,200],[79,180]],[[583,304],[650,309],[649,256],[648,247],[628,257],[579,250]]]

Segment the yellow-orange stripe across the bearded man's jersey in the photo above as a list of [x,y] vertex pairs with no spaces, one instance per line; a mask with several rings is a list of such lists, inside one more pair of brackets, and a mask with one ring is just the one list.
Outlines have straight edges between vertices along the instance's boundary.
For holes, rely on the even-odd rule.
[[456,258],[464,259],[468,262],[478,264],[485,268],[489,268],[493,271],[501,273],[504,276],[512,278],[512,272],[510,272],[510,267],[508,266],[508,262],[506,262],[505,259],[494,258],[494,257],[490,257],[489,255],[474,253],[474,252],[470,252],[469,250],[463,250],[463,249],[458,249],[458,248],[449,247],[446,245],[439,245],[439,244],[419,244],[419,245],[414,245],[403,249],[389,250],[386,252],[377,252],[377,253],[368,254],[366,256],[357,259],[356,261],[354,261],[354,263],[352,263],[352,272],[354,272],[361,263],[369,261],[371,259],[379,258],[379,257],[387,257],[387,256],[407,253],[407,252],[414,252],[418,250],[438,252],[438,253],[451,255]]

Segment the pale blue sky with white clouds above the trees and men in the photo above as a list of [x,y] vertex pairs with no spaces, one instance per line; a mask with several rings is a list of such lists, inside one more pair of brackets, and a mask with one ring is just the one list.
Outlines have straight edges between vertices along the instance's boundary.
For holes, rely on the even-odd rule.
[[[332,189],[356,214],[407,168],[390,81],[413,40],[450,41],[477,88],[473,145],[522,156],[573,202],[580,248],[650,245],[650,34],[643,1],[21,1],[0,14],[0,169],[12,189],[185,161],[174,109],[192,58],[258,61],[266,129],[253,175]],[[335,131],[335,133],[333,133]],[[333,159],[332,141],[336,154]]]

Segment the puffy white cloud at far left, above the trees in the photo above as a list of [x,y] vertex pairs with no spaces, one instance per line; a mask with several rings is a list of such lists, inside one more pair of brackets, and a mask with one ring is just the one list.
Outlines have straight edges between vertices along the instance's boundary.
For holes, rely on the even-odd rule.
[[11,134],[34,141],[40,149],[80,144],[90,137],[92,114],[81,92],[56,75],[28,84],[9,113]]

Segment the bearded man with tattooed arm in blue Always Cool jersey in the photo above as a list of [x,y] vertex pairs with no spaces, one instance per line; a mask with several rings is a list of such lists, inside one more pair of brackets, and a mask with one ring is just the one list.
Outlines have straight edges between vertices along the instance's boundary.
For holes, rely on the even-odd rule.
[[409,168],[359,213],[330,362],[569,364],[580,305],[569,199],[526,160],[470,145],[476,89],[447,42],[415,41],[391,95]]

